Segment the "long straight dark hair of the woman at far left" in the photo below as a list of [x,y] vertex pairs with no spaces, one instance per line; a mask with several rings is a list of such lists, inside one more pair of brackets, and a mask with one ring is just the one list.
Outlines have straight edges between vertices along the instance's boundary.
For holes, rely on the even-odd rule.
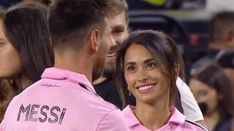
[[4,16],[4,32],[20,55],[20,75],[35,82],[45,68],[53,66],[46,7],[36,3],[20,3]]

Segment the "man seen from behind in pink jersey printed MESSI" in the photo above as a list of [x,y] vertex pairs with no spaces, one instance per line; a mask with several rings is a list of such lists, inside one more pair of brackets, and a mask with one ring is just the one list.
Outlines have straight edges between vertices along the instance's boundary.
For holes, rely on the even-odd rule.
[[103,72],[112,42],[108,0],[59,0],[49,27],[55,66],[10,103],[3,131],[126,131],[121,112],[99,97],[91,81]]

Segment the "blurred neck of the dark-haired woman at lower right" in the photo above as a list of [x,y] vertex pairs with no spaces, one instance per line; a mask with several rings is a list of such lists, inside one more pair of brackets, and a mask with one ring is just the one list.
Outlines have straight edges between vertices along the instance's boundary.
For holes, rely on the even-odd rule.
[[220,120],[220,114],[218,111],[215,111],[209,116],[205,116],[205,122],[208,126],[209,131],[213,131],[214,128],[217,126]]

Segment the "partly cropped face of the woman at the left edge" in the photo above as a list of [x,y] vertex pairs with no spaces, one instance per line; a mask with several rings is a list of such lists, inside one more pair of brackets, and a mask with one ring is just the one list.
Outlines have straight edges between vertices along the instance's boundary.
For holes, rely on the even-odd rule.
[[8,78],[20,72],[20,57],[16,49],[6,39],[3,21],[0,19],[0,78]]

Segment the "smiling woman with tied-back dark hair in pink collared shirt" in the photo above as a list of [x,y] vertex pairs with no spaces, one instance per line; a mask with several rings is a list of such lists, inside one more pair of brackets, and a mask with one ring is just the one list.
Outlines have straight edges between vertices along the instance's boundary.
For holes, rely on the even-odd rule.
[[133,32],[118,53],[116,67],[120,90],[136,98],[136,107],[123,110],[130,131],[205,130],[174,107],[183,61],[170,37],[152,30]]

